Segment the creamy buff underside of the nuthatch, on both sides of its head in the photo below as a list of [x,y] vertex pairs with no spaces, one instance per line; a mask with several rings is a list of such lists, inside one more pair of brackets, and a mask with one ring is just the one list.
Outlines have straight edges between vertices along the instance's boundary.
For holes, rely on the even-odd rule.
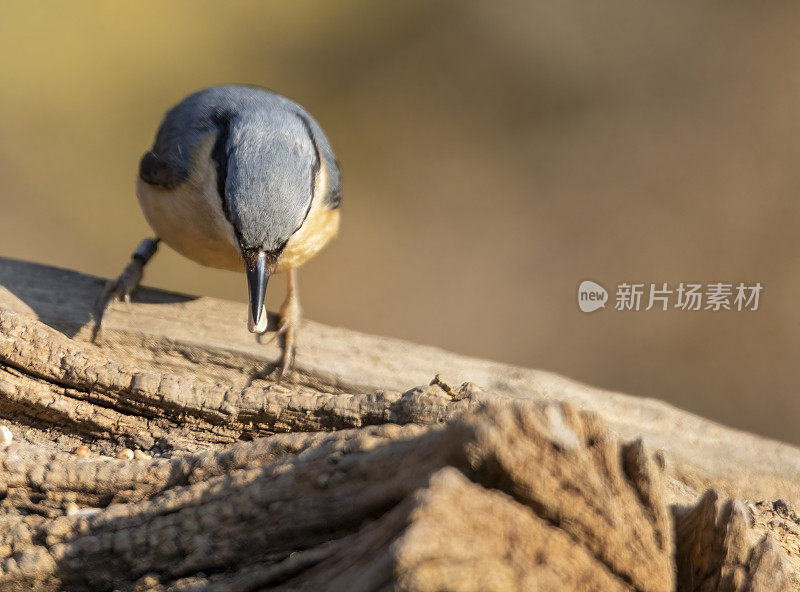
[[[213,136],[195,153],[188,180],[173,188],[137,179],[136,193],[156,235],[181,255],[207,267],[244,271],[233,226],[222,211],[217,172],[211,160]],[[317,175],[314,199],[303,225],[291,236],[275,272],[299,267],[317,254],[339,229],[339,210],[323,205],[328,174],[324,162]]]

